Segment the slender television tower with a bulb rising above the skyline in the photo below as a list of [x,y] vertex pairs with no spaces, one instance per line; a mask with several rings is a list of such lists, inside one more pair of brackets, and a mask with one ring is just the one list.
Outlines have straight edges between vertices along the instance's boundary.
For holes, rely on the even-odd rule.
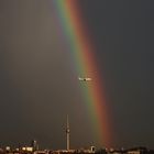
[[69,129],[69,119],[68,119],[68,114],[67,114],[67,122],[66,122],[66,150],[69,151],[69,146],[70,146],[70,129]]

